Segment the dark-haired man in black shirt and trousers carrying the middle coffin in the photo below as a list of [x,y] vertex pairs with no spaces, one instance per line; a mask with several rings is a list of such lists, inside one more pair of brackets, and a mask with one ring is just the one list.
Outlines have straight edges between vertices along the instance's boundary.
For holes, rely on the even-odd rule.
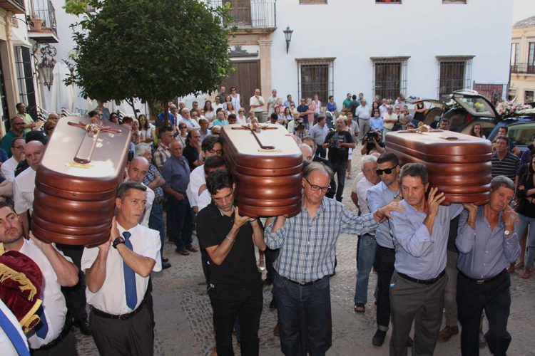
[[213,306],[218,355],[234,355],[232,330],[240,320],[242,355],[258,355],[262,280],[256,266],[255,246],[265,250],[258,219],[240,216],[234,206],[235,184],[224,170],[206,179],[212,204],[197,215],[199,244],[210,258],[208,293]]

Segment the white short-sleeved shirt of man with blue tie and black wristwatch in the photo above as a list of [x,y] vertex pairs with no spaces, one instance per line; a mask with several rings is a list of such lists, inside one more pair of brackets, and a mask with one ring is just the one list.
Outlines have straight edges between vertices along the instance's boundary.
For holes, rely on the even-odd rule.
[[[126,231],[123,226],[117,224],[119,234],[122,236]],[[132,243],[132,248],[138,255],[152,258],[156,261],[153,267],[153,272],[162,270],[162,261],[160,255],[160,233],[153,229],[148,229],[145,226],[136,225],[128,230],[131,233],[129,241]],[[111,243],[110,243],[111,244]],[[84,248],[81,269],[86,271],[93,266],[98,256],[98,247]],[[148,276],[142,277],[135,273],[136,276],[136,295],[138,303],[136,308],[140,305],[145,297],[148,286]],[[108,257],[106,258],[106,279],[96,293],[91,292],[86,288],[87,303],[93,305],[98,310],[112,315],[122,315],[131,313],[136,308],[131,309],[126,305],[126,292],[124,286],[124,272],[123,272],[123,258],[116,248],[110,247]]]

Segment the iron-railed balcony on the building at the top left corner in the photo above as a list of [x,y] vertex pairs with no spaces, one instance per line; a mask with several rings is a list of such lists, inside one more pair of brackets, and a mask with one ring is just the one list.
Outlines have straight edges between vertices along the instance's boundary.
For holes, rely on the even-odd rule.
[[[34,0],[29,38],[39,43],[58,43],[56,9],[50,0]],[[32,24],[33,23],[33,24]]]

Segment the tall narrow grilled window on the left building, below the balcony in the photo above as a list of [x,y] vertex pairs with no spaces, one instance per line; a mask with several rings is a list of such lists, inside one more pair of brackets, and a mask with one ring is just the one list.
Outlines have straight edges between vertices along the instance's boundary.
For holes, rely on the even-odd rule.
[[30,48],[15,47],[16,81],[19,85],[19,102],[26,104],[31,117],[37,117],[34,71],[32,70]]

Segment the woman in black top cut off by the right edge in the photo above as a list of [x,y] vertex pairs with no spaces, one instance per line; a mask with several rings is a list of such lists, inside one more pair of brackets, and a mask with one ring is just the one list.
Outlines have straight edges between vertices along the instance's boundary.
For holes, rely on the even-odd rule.
[[[534,174],[535,155],[531,156],[531,161],[526,167],[526,172],[521,175],[519,179],[519,187],[516,194],[518,194],[520,204],[516,209],[519,214],[520,224],[517,229],[518,234],[523,234],[526,229],[529,229],[527,245],[528,256],[524,266],[524,271],[520,273],[521,278],[529,278],[531,273],[535,272],[533,263],[535,261],[535,174]],[[521,255],[526,253],[524,250],[520,251]]]

